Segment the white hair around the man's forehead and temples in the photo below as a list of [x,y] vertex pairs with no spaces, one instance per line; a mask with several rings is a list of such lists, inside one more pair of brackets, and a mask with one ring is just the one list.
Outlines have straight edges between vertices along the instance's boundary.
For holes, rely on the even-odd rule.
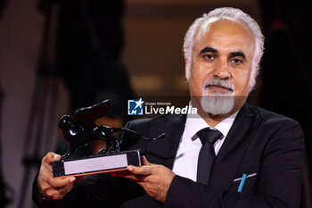
[[[256,84],[256,78],[259,74],[259,62],[261,60],[263,50],[264,50],[264,36],[262,35],[261,29],[258,23],[253,20],[250,15],[242,10],[235,9],[232,7],[222,7],[212,10],[209,13],[204,13],[200,18],[193,21],[193,24],[187,30],[185,34],[185,42],[183,45],[183,51],[185,58],[187,59],[185,77],[190,78],[191,75],[191,65],[192,65],[192,54],[194,39],[197,33],[202,33],[202,31],[207,32],[209,30],[209,25],[220,19],[231,20],[239,22],[244,25],[247,29],[250,29],[254,40],[255,40],[255,51],[253,54],[253,59],[251,63],[251,73],[250,73],[250,89],[252,89]],[[201,32],[199,32],[199,30]]]

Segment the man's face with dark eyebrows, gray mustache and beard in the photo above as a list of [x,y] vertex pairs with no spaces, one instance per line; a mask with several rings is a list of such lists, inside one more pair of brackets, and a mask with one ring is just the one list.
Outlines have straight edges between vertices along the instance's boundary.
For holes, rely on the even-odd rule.
[[[236,112],[250,92],[251,62],[255,48],[250,30],[234,21],[218,20],[210,24],[206,34],[196,37],[193,58],[186,60],[192,61],[188,80],[192,105],[211,114]],[[211,102],[209,99],[212,96],[217,100]],[[226,103],[224,98],[230,102],[221,106]],[[206,109],[205,103],[217,105]]]

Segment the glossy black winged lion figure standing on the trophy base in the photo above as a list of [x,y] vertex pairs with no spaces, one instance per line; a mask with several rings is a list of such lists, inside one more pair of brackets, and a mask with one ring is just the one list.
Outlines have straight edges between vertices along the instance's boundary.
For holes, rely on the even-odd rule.
[[113,136],[115,132],[127,132],[147,141],[155,141],[166,137],[166,133],[162,133],[159,137],[146,138],[131,129],[96,126],[94,121],[108,112],[109,105],[110,102],[105,100],[100,104],[79,109],[75,112],[78,121],[75,121],[69,115],[62,116],[58,126],[62,129],[64,139],[70,146],[70,150],[62,155],[62,159],[68,159],[79,146],[86,145],[97,139],[103,140],[106,143],[106,146],[99,151],[99,154],[118,153],[120,151],[120,141]]

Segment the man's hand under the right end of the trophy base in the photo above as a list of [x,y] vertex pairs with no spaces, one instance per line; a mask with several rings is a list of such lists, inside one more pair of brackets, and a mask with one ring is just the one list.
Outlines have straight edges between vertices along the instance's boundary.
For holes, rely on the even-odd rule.
[[132,179],[143,187],[149,196],[164,203],[168,188],[176,174],[163,165],[148,162],[144,156],[142,162],[144,166],[129,165],[127,171],[112,172],[111,175]]

